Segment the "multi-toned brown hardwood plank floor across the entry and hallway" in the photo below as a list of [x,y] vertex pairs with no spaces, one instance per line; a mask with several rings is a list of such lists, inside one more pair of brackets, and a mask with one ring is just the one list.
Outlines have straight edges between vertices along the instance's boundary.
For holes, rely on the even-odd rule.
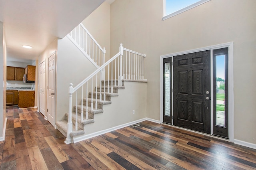
[[75,144],[36,109],[7,107],[0,169],[256,169],[256,150],[149,121]]

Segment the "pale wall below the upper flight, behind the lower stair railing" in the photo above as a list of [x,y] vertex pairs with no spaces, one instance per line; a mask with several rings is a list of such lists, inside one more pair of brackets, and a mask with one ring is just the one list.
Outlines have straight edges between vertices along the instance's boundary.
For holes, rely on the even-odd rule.
[[[72,83],[75,87],[95,70],[96,67],[67,37],[58,40],[56,121],[64,119],[65,113],[68,113],[69,84]],[[81,97],[78,98],[78,101],[81,101],[80,99]],[[74,97],[72,101],[74,105]]]

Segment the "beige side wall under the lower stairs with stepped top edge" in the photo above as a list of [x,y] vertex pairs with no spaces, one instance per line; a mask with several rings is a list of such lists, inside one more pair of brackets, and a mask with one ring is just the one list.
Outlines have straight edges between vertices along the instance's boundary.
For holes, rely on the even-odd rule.
[[94,123],[84,125],[84,134],[73,136],[74,143],[105,133],[106,129],[146,119],[147,81],[123,81],[125,89],[118,89],[111,104],[103,105],[103,113],[94,114]]

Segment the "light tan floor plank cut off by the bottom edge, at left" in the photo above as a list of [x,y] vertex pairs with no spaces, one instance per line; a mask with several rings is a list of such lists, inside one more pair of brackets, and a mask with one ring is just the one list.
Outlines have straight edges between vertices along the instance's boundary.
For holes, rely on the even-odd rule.
[[32,169],[34,169],[34,170],[46,170],[47,169],[46,163],[44,162],[44,157],[42,156],[38,146],[28,148],[28,155],[30,158]]

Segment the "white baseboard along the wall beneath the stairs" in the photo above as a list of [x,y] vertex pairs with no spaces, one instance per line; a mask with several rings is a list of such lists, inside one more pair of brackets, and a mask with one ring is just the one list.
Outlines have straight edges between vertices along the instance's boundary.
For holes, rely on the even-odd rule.
[[[147,118],[143,118],[143,119],[139,119],[137,121],[133,121],[133,122],[130,122],[130,123],[125,123],[123,125],[119,125],[119,126],[116,126],[116,127],[108,128],[108,129],[101,130],[101,131],[98,131],[98,132],[94,132],[94,133],[91,133],[91,134],[87,134],[87,135],[84,135],[84,136],[77,136],[77,137],[73,138],[73,141],[74,141],[74,143],[80,142],[82,140],[86,140],[88,138],[99,136],[101,134],[108,133],[108,132],[111,132],[113,130],[117,130],[117,129],[120,129],[120,128],[123,128],[123,127],[128,127],[130,125],[134,125],[136,123],[140,123],[140,122],[143,122],[143,121],[146,121],[146,120],[147,120]],[[152,120],[154,120],[154,119],[152,119]]]

